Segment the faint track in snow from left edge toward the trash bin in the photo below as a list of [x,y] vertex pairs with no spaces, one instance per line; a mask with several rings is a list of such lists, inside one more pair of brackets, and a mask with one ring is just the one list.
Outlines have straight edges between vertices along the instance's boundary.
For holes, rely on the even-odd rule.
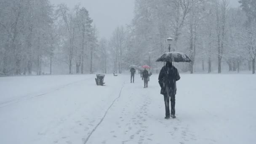
[[66,88],[69,85],[72,85],[72,84],[75,84],[75,83],[80,83],[80,82],[83,82],[83,81],[88,80],[88,79],[90,79],[90,78],[87,78],[87,79],[84,79],[84,80],[75,81],[75,82],[72,82],[72,83],[68,83],[66,85],[61,85],[61,86],[59,86],[59,88],[56,88],[56,89],[53,89],[51,91],[48,91],[48,92],[45,92],[45,93],[41,93],[41,94],[38,94],[38,95],[35,95],[35,96],[26,95],[26,96],[21,96],[20,98],[16,98],[16,99],[12,99],[12,100],[9,100],[9,101],[1,102],[0,103],[0,108],[7,107],[7,106],[10,106],[12,104],[16,104],[16,103],[18,103],[18,102],[20,102],[20,101],[22,101],[22,100],[24,100],[26,98],[27,99],[32,99],[32,98],[35,98],[35,97],[44,96],[44,95],[46,95],[48,93],[59,91],[59,90],[61,90],[63,88]]

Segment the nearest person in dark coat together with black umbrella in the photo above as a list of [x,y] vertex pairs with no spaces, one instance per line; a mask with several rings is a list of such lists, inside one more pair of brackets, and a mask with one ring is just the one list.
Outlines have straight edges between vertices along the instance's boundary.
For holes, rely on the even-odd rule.
[[172,65],[175,62],[190,62],[191,60],[184,53],[168,52],[164,53],[157,61],[165,61],[166,65],[160,70],[158,83],[161,87],[161,94],[165,101],[165,119],[170,118],[169,100],[171,101],[171,117],[175,116],[175,95],[176,95],[176,81],[180,80],[179,72]]

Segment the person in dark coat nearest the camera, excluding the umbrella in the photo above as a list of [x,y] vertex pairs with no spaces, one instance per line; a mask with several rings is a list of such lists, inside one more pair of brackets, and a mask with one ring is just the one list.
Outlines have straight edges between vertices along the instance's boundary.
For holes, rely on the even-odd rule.
[[178,81],[180,78],[181,77],[179,76],[179,72],[176,67],[174,67],[171,62],[166,62],[166,65],[161,69],[158,77],[158,82],[161,87],[161,94],[163,94],[165,101],[165,119],[170,118],[169,99],[171,101],[171,117],[176,118],[176,81]]

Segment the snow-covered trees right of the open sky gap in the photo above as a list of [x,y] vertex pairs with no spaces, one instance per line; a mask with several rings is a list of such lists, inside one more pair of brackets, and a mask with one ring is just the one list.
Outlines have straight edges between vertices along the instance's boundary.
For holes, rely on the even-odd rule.
[[[150,57],[152,64],[168,51],[166,38],[171,36],[172,51],[184,52],[193,61],[176,64],[184,72],[207,68],[221,73],[223,67],[239,72],[242,67],[254,74],[256,1],[240,3],[240,8],[231,8],[228,0],[135,0],[131,24],[125,30],[117,27],[106,44],[114,71],[150,64]],[[151,66],[159,70],[157,63]]]

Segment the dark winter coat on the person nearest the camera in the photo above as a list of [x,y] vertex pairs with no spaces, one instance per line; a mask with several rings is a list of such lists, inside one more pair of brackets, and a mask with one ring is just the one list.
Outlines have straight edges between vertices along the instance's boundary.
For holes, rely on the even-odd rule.
[[171,64],[164,66],[159,74],[158,83],[161,87],[161,94],[166,94],[166,87],[169,88],[170,92],[176,94],[176,81],[178,81],[181,77],[179,76],[179,72],[176,67]]

